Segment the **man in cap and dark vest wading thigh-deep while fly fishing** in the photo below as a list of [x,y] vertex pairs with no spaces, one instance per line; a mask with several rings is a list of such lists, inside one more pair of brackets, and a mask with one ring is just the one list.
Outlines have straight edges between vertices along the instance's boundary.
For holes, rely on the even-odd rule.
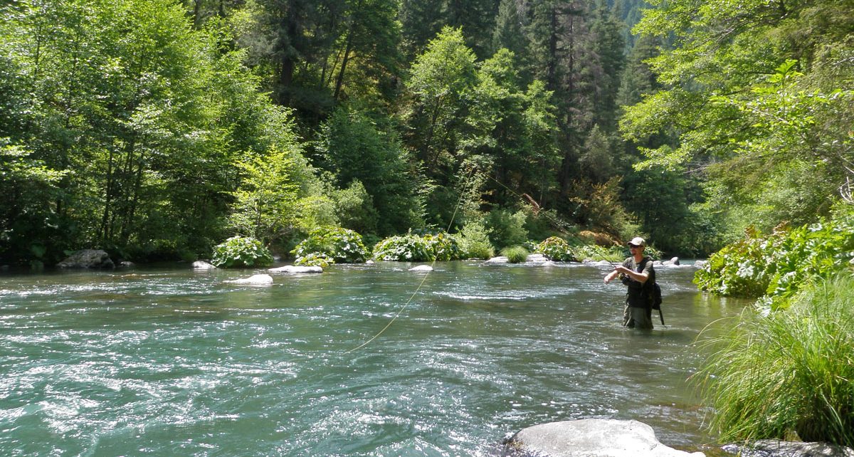
[[620,277],[623,284],[629,286],[626,294],[626,307],[623,308],[623,325],[629,328],[652,329],[652,301],[649,290],[655,284],[655,270],[652,259],[644,257],[646,241],[635,237],[629,242],[632,256],[623,261],[623,265],[605,276],[605,284]]

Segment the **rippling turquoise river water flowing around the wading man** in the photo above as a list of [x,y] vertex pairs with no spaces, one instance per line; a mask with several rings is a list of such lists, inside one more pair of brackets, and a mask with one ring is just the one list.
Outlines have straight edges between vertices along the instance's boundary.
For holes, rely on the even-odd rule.
[[582,418],[713,441],[693,342],[744,303],[699,293],[693,267],[658,269],[650,333],[620,326],[603,267],[409,267],[0,276],[0,454],[488,456]]

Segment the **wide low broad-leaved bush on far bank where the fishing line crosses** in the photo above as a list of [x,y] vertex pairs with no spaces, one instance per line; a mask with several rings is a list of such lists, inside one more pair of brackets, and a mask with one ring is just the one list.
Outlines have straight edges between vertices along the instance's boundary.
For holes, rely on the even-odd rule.
[[459,245],[454,237],[443,231],[422,236],[408,233],[377,243],[374,258],[380,261],[453,261],[459,259]]

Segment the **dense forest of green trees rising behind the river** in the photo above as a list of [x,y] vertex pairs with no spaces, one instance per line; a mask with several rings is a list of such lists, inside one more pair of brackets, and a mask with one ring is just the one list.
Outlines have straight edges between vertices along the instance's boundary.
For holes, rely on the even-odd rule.
[[852,0],[12,0],[0,264],[318,227],[706,256],[850,208],[852,88]]

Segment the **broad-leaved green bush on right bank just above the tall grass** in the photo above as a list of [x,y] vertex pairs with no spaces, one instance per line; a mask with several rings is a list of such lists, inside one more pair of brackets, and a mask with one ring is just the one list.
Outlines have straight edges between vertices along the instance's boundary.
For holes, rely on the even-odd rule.
[[695,273],[701,290],[720,295],[761,297],[770,308],[788,300],[812,276],[827,277],[854,257],[854,217],[839,217],[795,229],[778,229],[769,237],[748,231]]

